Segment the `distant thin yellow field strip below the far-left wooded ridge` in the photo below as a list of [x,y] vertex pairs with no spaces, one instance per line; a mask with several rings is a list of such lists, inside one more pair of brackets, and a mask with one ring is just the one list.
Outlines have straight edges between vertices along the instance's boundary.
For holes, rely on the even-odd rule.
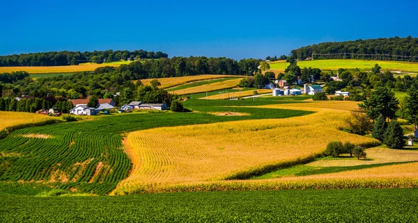
[[71,73],[71,72],[91,72],[98,67],[112,66],[118,67],[121,63],[86,63],[83,65],[52,66],[52,67],[0,67],[0,74],[4,72],[26,71],[29,74],[48,74],[48,73]]

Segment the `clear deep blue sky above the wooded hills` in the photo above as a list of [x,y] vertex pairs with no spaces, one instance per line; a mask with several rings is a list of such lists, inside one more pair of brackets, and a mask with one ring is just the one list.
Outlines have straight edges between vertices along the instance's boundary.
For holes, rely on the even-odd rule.
[[265,58],[327,41],[418,37],[418,1],[6,1],[0,55],[145,49]]

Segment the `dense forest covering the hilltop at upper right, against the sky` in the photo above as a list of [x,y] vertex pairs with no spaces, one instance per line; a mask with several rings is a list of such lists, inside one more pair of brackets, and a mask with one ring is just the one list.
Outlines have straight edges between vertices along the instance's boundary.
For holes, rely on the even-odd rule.
[[323,42],[293,49],[291,58],[366,59],[418,61],[418,38],[378,38],[346,42]]

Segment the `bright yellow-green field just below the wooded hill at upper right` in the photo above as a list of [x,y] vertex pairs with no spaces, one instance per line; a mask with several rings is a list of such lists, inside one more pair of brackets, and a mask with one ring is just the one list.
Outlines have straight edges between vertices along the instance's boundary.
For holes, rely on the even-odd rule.
[[[270,63],[271,69],[285,69],[289,63],[284,64],[285,60]],[[408,63],[401,61],[380,61],[380,60],[304,60],[298,61],[297,65],[301,68],[312,67],[319,69],[336,70],[339,68],[359,68],[370,70],[375,64],[380,65],[382,70],[418,72],[418,63]]]

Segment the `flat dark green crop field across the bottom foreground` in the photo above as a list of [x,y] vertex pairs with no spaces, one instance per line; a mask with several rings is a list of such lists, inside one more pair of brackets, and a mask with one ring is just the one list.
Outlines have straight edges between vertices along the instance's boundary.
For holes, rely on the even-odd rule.
[[417,206],[417,189],[0,195],[3,222],[417,222]]

